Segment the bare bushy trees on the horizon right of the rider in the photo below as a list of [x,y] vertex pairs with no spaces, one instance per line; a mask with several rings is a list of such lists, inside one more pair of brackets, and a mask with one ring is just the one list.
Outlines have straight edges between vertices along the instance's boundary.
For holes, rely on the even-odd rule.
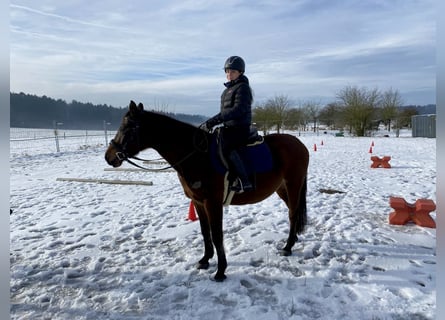
[[[428,105],[434,110],[435,105]],[[365,136],[384,124],[388,131],[411,126],[411,117],[419,114],[419,106],[403,106],[397,90],[346,86],[336,94],[336,101],[324,106],[316,101],[294,102],[286,95],[276,95],[253,108],[253,121],[266,134],[269,130],[348,130]],[[310,126],[310,127],[309,127]]]

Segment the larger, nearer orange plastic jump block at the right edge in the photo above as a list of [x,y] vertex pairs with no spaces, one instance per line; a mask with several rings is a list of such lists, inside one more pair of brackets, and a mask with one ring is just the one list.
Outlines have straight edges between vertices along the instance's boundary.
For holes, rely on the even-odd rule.
[[389,205],[395,210],[389,214],[390,224],[404,225],[412,221],[421,227],[436,228],[436,222],[430,216],[430,212],[436,210],[433,200],[418,199],[410,204],[403,198],[390,197]]

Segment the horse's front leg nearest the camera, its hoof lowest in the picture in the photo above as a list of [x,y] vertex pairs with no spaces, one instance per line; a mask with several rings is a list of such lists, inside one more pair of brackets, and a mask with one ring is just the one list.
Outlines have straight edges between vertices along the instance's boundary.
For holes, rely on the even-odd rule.
[[221,282],[226,279],[224,274],[227,268],[226,253],[223,242],[223,206],[222,203],[212,203],[206,201],[205,210],[210,223],[211,237],[218,257],[218,270],[215,274],[215,281]]

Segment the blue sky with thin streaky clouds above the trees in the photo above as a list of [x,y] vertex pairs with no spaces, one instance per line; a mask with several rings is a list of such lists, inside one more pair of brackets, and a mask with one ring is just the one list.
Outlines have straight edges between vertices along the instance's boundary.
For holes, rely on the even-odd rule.
[[436,99],[434,0],[12,0],[10,89],[212,115],[240,55],[255,103],[346,86]]

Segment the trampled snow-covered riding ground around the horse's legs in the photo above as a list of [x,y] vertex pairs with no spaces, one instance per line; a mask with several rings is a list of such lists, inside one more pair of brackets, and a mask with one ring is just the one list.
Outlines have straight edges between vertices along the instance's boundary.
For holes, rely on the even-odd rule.
[[[11,156],[11,318],[434,319],[436,229],[388,217],[390,196],[436,201],[435,139],[301,139],[311,151],[306,232],[282,257],[277,196],[226,208],[223,283],[210,280],[215,259],[195,269],[202,237],[176,173],[105,171],[97,146]],[[392,168],[370,168],[372,155],[391,156]]]

